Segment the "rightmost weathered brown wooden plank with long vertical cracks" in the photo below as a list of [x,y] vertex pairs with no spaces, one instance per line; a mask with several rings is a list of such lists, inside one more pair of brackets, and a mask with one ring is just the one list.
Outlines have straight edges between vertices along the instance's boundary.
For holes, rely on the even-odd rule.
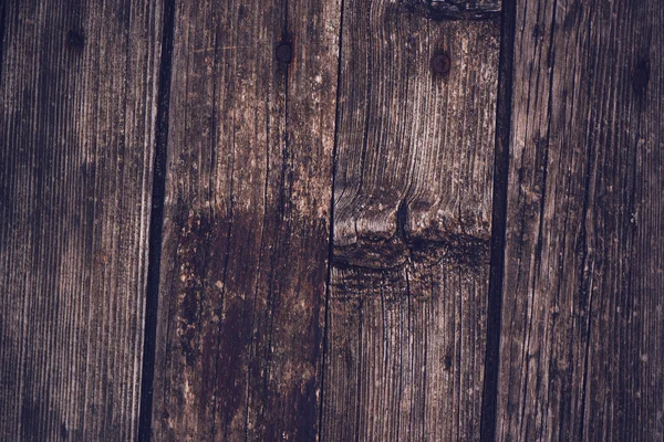
[[497,436],[661,441],[661,3],[516,20]]

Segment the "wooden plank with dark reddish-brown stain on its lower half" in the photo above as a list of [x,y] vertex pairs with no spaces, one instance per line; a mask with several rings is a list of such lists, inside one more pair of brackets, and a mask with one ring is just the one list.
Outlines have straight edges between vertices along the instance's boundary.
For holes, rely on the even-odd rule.
[[315,438],[340,12],[176,3],[154,440]]

